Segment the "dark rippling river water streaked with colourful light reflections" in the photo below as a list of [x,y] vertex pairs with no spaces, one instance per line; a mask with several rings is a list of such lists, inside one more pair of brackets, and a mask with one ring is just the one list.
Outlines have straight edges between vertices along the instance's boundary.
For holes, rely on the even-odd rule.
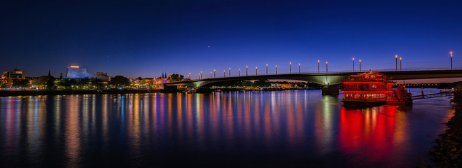
[[345,109],[341,98],[319,90],[0,97],[0,167],[414,167],[453,112],[447,97],[369,109]]

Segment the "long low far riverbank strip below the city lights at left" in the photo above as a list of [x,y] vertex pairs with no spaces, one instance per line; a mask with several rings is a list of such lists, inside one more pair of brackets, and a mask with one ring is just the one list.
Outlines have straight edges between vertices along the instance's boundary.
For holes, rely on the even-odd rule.
[[160,92],[160,90],[0,90],[0,97],[60,94],[127,94],[151,92]]

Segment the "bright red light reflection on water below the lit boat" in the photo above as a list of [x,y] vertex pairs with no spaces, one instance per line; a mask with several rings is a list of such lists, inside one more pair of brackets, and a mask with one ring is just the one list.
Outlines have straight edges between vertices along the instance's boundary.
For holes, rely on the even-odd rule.
[[[339,148],[346,154],[360,155],[351,160],[358,164],[396,160],[393,151],[402,150],[401,136],[405,130],[401,115],[395,106],[379,106],[372,109],[346,109],[342,107],[339,118]],[[393,159],[392,159],[393,158]],[[399,159],[398,159],[399,160]],[[393,163],[387,163],[393,164]]]

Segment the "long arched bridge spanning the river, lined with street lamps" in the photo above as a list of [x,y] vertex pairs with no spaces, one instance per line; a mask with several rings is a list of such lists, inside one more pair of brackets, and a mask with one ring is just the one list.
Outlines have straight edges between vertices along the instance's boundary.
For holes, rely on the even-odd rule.
[[[376,71],[384,73],[391,80],[428,79],[428,78],[462,78],[462,69],[407,69],[400,71]],[[179,82],[165,83],[161,89],[174,88],[176,86],[188,86],[194,88],[207,88],[214,83],[241,81],[241,80],[302,80],[323,85],[323,94],[338,94],[338,85],[342,84],[347,76],[360,72],[339,71],[329,73],[279,73],[262,74],[251,76],[229,76],[223,78],[204,78],[197,80],[183,80]]]

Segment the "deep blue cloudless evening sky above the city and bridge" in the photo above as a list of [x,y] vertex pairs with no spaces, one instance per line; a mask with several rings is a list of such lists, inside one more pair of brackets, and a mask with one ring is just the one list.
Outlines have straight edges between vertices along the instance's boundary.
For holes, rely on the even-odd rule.
[[13,1],[0,18],[0,71],[28,76],[71,64],[128,77],[317,71],[318,59],[346,71],[351,57],[394,69],[395,54],[406,69],[448,68],[450,50],[462,67],[458,1]]

